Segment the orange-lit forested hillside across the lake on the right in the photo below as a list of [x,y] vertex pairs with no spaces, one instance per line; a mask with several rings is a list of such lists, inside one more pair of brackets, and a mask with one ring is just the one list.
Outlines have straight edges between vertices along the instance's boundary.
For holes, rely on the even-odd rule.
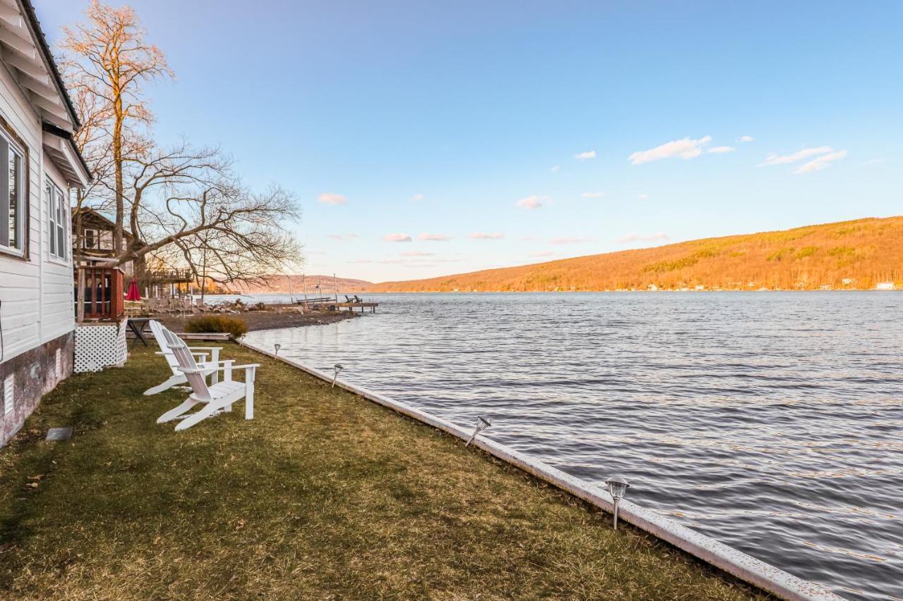
[[383,282],[372,291],[818,290],[903,286],[903,217],[796,227],[542,264]]

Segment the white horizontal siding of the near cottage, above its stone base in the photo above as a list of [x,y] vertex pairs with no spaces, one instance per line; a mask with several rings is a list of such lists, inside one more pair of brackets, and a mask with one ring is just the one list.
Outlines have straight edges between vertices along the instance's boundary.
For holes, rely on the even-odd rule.
[[23,261],[0,254],[0,316],[4,338],[4,360],[23,353],[75,329],[72,308],[71,260],[53,263],[49,256],[47,207],[43,198],[45,171],[61,190],[60,173],[44,159],[41,121],[0,65],[0,116],[28,147],[29,164],[29,259]]

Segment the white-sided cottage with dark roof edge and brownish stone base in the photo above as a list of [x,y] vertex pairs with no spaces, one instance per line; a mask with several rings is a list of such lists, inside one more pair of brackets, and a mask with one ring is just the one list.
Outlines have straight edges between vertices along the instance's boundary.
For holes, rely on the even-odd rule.
[[31,0],[0,0],[0,446],[72,372],[78,127]]

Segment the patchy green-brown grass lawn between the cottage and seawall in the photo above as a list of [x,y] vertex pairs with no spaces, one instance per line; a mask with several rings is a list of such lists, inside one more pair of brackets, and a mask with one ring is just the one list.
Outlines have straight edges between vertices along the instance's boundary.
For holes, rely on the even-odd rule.
[[[79,374],[0,449],[0,597],[761,596],[478,449],[288,365],[185,432],[154,348]],[[70,425],[70,442],[44,442]]]

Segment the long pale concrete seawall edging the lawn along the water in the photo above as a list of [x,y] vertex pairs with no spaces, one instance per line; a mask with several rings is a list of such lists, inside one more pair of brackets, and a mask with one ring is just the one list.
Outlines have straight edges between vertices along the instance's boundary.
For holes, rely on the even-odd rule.
[[[238,344],[255,350],[263,355],[275,357],[288,365],[293,365],[294,367],[327,382],[332,381],[332,374],[321,372],[318,369],[303,365],[293,359],[275,356],[271,350],[267,350],[264,347],[259,347],[243,340],[239,340]],[[402,413],[414,420],[422,421],[433,426],[433,428],[448,432],[460,439],[470,439],[470,435],[472,434],[472,429],[470,428],[462,428],[451,421],[443,420],[426,411],[421,411],[403,402],[398,402],[384,394],[374,393],[366,388],[356,384],[350,384],[340,379],[336,381],[336,385],[351,393],[358,394],[369,401],[377,402],[380,405]],[[487,439],[481,435],[477,436],[471,444],[482,448],[490,455],[502,459],[513,466],[519,467],[529,474],[532,474],[571,495],[577,496],[604,511],[610,513],[613,510],[611,496],[608,491],[599,486],[592,485],[581,478],[570,476],[560,469],[546,465],[542,461],[530,458],[513,448],[507,448],[505,445],[499,444],[498,442]],[[667,541],[675,547],[686,551],[690,555],[774,595],[786,599],[841,599],[840,596],[834,595],[824,587],[808,582],[802,578],[796,578],[796,576],[793,576],[782,569],[777,569],[740,550],[733,549],[711,537],[695,532],[673,520],[669,520],[649,509],[640,507],[639,505],[630,503],[626,500],[620,502],[619,519],[629,522],[640,530],[649,532],[657,538]]]

